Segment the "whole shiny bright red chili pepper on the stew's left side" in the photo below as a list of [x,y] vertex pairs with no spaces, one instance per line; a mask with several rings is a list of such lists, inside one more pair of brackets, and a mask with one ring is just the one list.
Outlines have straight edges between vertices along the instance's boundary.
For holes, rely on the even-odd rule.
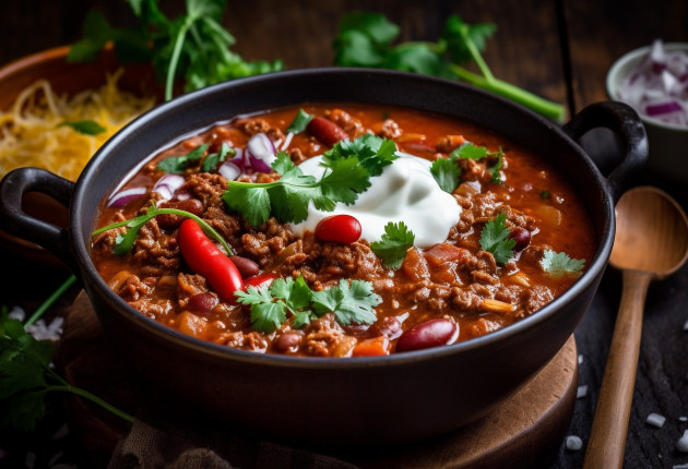
[[191,270],[205,277],[225,301],[234,301],[234,292],[244,287],[239,269],[211,240],[201,226],[187,218],[177,234],[179,251]]

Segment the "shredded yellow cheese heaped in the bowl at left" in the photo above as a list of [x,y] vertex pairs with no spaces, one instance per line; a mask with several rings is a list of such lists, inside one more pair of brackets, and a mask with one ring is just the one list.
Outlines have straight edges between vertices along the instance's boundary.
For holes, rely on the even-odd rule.
[[[122,72],[108,75],[99,89],[72,97],[57,95],[47,80],[23,89],[11,109],[0,111],[0,178],[12,169],[33,166],[75,180],[107,139],[155,104],[153,97],[119,89]],[[106,131],[86,135],[58,127],[80,120],[95,121]]]

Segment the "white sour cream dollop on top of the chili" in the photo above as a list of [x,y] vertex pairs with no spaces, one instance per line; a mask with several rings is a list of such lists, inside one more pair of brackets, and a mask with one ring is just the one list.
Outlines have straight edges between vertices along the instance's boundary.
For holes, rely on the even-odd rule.
[[[406,153],[384,167],[382,175],[370,179],[370,188],[358,195],[352,205],[337,203],[333,212],[323,212],[308,205],[308,217],[292,224],[298,237],[306,231],[316,231],[323,218],[332,215],[351,215],[360,223],[360,238],[369,242],[379,241],[384,226],[403,221],[415,234],[414,245],[429,248],[443,242],[451,227],[459,223],[461,206],[451,194],[442,191],[430,173],[430,161]],[[307,159],[299,165],[305,175],[318,179],[325,168],[320,166],[321,156]]]

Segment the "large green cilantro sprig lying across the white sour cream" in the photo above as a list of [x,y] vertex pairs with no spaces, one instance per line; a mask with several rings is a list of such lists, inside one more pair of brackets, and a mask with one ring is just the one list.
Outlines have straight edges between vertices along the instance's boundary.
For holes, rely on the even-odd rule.
[[280,152],[272,164],[281,175],[278,181],[227,181],[223,200],[251,226],[264,224],[271,214],[281,223],[299,223],[308,217],[310,201],[324,212],[332,212],[337,202],[356,202],[370,187],[370,178],[396,158],[393,145],[373,135],[340,142],[324,154],[321,165],[328,170],[319,180],[304,175],[285,152]]

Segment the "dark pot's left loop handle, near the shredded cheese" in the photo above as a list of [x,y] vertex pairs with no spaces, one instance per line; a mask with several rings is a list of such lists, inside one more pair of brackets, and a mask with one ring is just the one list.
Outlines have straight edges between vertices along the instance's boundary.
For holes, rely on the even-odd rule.
[[66,229],[27,215],[22,199],[27,192],[51,196],[69,208],[74,183],[38,168],[19,168],[0,181],[0,228],[36,243],[62,261],[72,272],[79,272],[69,248]]

